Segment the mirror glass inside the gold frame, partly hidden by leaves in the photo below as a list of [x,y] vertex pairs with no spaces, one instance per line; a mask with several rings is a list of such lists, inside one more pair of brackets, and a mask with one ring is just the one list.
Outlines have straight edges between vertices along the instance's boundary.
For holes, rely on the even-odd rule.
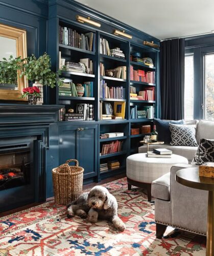
[[[16,53],[16,40],[4,36],[0,36],[0,61],[3,58],[8,59],[11,55],[13,58],[17,57]],[[17,73],[17,72],[15,72]],[[3,84],[0,83],[0,89],[6,90],[18,90],[17,83],[14,84]]]

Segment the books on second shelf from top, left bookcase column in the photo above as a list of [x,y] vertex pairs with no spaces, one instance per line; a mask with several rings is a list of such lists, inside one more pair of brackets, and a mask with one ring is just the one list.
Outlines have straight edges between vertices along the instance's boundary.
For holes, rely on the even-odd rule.
[[89,58],[80,59],[79,62],[66,61],[65,70],[69,72],[93,74],[93,61]]

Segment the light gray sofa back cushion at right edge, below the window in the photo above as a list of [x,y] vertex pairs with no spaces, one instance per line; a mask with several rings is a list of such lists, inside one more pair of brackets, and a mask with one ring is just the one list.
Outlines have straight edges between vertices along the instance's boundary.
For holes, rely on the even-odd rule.
[[199,144],[200,139],[214,139],[214,121],[201,119],[198,123],[196,140]]

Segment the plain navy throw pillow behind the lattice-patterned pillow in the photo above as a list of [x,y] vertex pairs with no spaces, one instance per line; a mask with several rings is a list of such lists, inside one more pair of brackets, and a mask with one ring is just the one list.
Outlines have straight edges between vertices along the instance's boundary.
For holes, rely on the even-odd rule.
[[164,141],[165,144],[170,144],[171,141],[170,123],[183,124],[183,120],[166,121],[154,118],[154,124],[156,125],[156,130],[158,132],[158,140]]

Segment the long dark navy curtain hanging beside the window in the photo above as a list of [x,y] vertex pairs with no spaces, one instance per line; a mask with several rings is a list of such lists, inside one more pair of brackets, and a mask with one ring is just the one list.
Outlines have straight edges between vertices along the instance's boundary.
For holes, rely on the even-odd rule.
[[184,118],[184,39],[160,43],[161,118]]

